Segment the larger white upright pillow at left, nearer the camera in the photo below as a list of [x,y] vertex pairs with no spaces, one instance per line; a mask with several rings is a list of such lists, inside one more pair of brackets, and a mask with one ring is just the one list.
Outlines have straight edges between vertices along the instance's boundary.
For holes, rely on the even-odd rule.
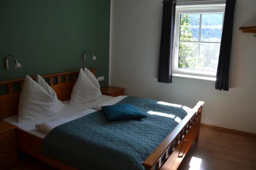
[[19,96],[18,123],[30,122],[56,114],[63,108],[55,91],[37,75],[37,82],[28,75]]

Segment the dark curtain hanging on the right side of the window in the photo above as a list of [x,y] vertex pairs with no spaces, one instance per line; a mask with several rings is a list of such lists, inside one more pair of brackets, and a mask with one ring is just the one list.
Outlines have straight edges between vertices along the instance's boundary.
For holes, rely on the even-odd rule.
[[226,8],[221,37],[219,64],[217,69],[215,88],[228,91],[229,63],[233,33],[234,7],[236,0],[226,0]]

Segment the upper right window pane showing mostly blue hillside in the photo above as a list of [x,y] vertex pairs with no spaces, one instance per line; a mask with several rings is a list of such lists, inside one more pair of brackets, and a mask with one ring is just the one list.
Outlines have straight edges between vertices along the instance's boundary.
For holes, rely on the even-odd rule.
[[223,14],[202,14],[201,41],[221,42]]

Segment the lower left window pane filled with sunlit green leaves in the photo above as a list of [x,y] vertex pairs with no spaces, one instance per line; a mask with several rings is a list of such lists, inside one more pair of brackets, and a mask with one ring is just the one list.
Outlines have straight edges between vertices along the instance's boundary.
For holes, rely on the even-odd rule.
[[196,68],[198,63],[198,43],[180,42],[179,68]]

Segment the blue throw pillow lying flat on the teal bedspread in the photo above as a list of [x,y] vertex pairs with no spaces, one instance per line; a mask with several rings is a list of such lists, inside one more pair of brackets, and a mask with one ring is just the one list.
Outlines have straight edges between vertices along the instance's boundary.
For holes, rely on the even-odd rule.
[[109,121],[140,119],[147,117],[146,114],[133,105],[116,104],[111,106],[103,106],[101,109]]

